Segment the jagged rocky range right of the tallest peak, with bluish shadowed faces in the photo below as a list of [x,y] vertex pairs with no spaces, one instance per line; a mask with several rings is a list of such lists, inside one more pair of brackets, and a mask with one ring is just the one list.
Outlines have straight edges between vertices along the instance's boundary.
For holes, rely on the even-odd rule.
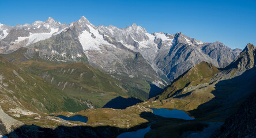
[[232,50],[219,42],[202,43],[182,33],[149,34],[135,24],[121,29],[115,26],[99,26],[99,32],[113,37],[133,51],[140,52],[160,76],[164,74],[170,81],[202,61],[216,67],[225,67],[241,51]]

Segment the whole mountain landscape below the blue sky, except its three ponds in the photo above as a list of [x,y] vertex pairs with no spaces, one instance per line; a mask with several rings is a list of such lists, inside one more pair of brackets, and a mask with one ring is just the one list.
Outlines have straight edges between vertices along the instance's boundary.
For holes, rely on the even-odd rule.
[[84,16],[69,25],[51,17],[0,24],[0,137],[121,137],[144,128],[144,137],[256,137],[256,47],[244,46],[95,26]]

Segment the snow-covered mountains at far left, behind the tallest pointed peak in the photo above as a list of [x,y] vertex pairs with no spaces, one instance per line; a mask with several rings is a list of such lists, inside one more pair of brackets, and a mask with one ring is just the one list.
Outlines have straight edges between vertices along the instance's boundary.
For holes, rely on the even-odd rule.
[[[51,17],[44,22],[35,21],[32,24],[16,25],[14,27],[1,25],[0,40],[5,41],[5,48],[15,50],[20,47],[27,47],[37,41],[48,39],[52,34],[61,31],[66,26],[66,24],[61,24],[61,22],[55,21]],[[12,33],[8,37],[9,39],[3,40],[10,32]],[[9,49],[5,49],[5,51],[8,52]]]

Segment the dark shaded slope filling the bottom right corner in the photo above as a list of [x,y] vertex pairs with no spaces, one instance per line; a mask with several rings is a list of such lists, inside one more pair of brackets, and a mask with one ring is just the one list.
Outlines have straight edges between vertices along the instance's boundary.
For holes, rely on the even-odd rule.
[[212,137],[256,137],[256,93],[250,95],[240,108],[225,120]]

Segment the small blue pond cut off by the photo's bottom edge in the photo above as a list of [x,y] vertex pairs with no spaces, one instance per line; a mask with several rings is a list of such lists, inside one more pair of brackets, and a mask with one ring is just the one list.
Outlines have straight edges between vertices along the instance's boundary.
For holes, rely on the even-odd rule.
[[118,135],[116,138],[143,138],[146,133],[150,131],[150,126],[148,128],[138,129],[138,131],[125,132]]

